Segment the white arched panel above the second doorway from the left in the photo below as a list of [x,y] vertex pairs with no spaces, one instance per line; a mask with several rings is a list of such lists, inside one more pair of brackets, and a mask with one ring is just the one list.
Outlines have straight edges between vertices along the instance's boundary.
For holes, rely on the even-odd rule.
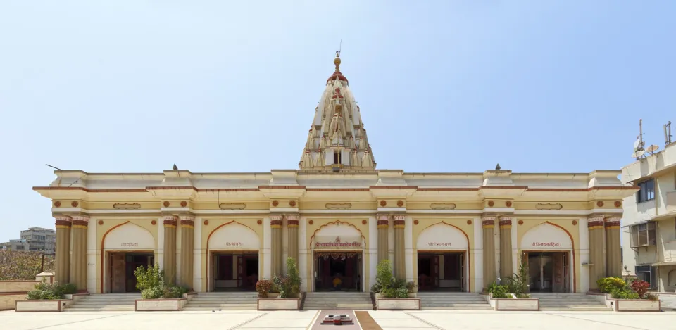
[[207,247],[217,250],[258,250],[261,248],[261,239],[253,229],[233,221],[215,229],[209,236]]

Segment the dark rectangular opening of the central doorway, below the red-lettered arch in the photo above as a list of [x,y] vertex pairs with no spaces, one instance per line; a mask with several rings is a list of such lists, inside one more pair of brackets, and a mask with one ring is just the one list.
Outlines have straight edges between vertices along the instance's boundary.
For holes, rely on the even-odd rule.
[[315,291],[361,292],[361,253],[316,252]]

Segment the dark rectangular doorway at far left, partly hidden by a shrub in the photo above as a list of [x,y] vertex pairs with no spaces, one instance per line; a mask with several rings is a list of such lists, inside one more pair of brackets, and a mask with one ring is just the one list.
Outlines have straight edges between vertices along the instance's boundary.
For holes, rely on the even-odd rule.
[[111,252],[109,272],[111,274],[110,290],[111,293],[139,292],[136,288],[136,275],[134,271],[138,267],[149,267],[155,265],[155,255],[148,252]]

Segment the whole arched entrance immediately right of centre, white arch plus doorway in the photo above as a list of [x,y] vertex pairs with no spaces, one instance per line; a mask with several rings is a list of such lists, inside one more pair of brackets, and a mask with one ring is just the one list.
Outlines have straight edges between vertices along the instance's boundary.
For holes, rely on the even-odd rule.
[[425,228],[418,236],[418,290],[469,291],[469,239],[446,222]]

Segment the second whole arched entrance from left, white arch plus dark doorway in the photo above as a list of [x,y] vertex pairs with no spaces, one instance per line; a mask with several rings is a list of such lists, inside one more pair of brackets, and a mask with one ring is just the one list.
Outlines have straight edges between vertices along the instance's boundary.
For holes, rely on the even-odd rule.
[[207,291],[256,290],[262,258],[256,231],[239,222],[222,224],[207,241]]

